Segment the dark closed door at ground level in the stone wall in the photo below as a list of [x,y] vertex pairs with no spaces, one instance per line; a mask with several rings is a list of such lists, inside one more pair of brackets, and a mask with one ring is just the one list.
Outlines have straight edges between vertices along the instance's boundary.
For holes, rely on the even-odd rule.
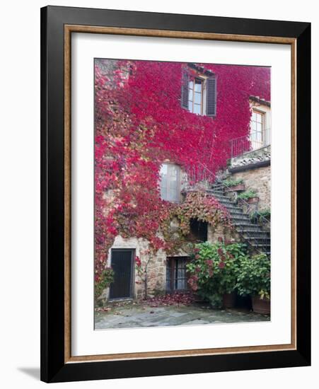
[[110,298],[132,297],[134,250],[112,250],[111,266],[114,281],[110,285]]

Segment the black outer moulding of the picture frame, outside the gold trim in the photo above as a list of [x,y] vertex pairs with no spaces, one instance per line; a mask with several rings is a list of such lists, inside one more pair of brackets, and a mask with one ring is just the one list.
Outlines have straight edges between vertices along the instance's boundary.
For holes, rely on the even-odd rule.
[[[64,25],[296,39],[296,349],[82,361],[64,358]],[[236,40],[236,39],[234,39]],[[41,9],[41,380],[84,381],[311,364],[311,23],[47,6]]]

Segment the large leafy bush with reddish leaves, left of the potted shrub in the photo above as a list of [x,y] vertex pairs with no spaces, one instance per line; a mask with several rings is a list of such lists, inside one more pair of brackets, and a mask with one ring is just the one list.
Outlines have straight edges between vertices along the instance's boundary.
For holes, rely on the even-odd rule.
[[187,264],[191,289],[214,308],[220,308],[223,295],[236,288],[240,258],[245,252],[245,244],[231,243],[222,238],[218,243],[196,245],[192,260]]

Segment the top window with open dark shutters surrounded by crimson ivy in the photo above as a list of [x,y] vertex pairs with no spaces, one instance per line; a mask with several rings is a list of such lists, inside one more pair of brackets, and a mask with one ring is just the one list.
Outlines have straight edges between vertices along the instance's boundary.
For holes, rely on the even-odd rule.
[[197,115],[216,116],[216,75],[211,71],[202,74],[196,65],[189,65],[197,70],[198,77],[191,78],[187,71],[182,76],[181,105]]

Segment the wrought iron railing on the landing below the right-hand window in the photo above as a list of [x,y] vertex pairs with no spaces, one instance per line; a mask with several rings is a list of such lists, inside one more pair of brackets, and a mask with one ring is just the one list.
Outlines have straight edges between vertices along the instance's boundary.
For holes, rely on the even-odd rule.
[[250,132],[249,135],[238,137],[229,141],[231,149],[231,158],[240,156],[248,151],[261,149],[270,144],[270,129],[263,129],[262,131]]

